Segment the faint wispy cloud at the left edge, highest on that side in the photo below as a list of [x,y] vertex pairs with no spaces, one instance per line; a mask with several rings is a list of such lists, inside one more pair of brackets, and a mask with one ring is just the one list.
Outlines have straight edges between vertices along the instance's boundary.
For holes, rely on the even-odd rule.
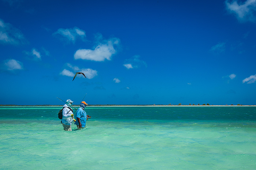
[[0,42],[3,44],[25,44],[26,39],[19,29],[0,19]]

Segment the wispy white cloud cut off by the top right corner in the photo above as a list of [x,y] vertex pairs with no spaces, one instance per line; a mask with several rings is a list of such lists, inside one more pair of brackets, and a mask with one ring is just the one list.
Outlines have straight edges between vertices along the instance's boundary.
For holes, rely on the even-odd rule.
[[230,3],[230,0],[226,0],[225,3],[227,11],[236,15],[238,20],[255,22],[256,0],[247,0],[244,3],[237,0]]

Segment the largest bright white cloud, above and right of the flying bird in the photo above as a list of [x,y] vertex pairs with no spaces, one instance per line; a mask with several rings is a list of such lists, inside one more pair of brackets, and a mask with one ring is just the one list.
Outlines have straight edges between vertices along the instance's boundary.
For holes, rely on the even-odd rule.
[[104,61],[105,59],[111,60],[113,54],[115,54],[116,47],[119,44],[118,38],[110,38],[104,40],[103,43],[98,43],[98,45],[91,49],[79,49],[75,52],[74,58],[82,60],[92,60],[92,61]]

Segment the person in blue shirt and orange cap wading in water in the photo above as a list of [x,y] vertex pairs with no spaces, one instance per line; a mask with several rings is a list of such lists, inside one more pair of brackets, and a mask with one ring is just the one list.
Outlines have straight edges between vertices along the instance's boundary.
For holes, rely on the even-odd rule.
[[84,128],[86,124],[86,120],[88,120],[89,116],[87,116],[86,112],[84,111],[84,108],[88,105],[86,102],[81,102],[80,107],[78,108],[76,112],[76,122],[75,125],[78,129]]

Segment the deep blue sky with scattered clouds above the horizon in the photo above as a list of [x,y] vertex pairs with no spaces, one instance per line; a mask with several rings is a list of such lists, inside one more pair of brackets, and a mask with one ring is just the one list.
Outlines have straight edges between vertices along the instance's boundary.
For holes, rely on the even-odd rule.
[[0,104],[256,105],[255,39],[256,0],[0,0]]

